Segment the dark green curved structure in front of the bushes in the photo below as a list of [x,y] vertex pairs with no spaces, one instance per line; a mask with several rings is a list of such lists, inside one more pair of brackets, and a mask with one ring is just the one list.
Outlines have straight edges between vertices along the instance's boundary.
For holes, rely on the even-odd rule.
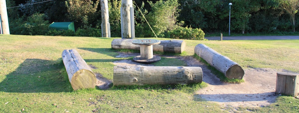
[[75,32],[74,22],[53,22],[49,29],[55,30],[73,30]]

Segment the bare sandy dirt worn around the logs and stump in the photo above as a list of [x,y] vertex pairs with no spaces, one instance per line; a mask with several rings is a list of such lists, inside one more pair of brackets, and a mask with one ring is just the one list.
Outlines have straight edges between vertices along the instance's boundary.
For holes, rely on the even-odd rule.
[[[119,52],[119,54],[120,55],[117,57],[132,57],[138,55],[138,53],[122,52]],[[223,105],[224,107],[234,108],[238,106],[262,107],[274,103],[276,97],[278,96],[274,94],[277,72],[274,69],[245,69],[245,75],[243,77],[245,80],[244,83],[229,84],[221,82],[205,64],[196,60],[192,56],[162,57],[178,58],[185,61],[188,66],[198,66],[202,68],[203,81],[208,83],[208,86],[195,92],[194,97],[197,101],[213,101]],[[115,61],[113,64],[122,66],[153,66],[152,64],[135,63],[131,60]],[[98,81],[102,81],[102,79],[99,78]],[[102,81],[102,86],[107,85],[108,83],[111,83],[111,81]]]

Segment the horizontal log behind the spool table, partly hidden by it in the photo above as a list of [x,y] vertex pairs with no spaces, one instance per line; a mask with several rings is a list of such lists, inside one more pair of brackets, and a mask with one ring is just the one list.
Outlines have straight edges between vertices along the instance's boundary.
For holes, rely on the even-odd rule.
[[[113,49],[140,50],[140,45],[132,44],[135,39],[113,39]],[[160,40],[160,44],[153,45],[153,51],[182,53],[185,51],[186,42],[182,40]]]

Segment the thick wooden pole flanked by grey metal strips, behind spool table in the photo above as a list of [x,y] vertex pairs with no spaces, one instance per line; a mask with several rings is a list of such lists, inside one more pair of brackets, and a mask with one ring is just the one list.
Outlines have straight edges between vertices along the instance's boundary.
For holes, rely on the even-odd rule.
[[135,38],[134,9],[132,0],[121,0],[120,7],[121,38]]

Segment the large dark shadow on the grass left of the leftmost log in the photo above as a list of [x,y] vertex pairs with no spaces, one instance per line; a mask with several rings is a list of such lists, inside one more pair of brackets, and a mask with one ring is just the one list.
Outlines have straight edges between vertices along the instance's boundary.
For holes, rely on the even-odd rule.
[[15,71],[6,75],[0,83],[0,91],[36,93],[71,92],[73,89],[61,59],[26,59]]

